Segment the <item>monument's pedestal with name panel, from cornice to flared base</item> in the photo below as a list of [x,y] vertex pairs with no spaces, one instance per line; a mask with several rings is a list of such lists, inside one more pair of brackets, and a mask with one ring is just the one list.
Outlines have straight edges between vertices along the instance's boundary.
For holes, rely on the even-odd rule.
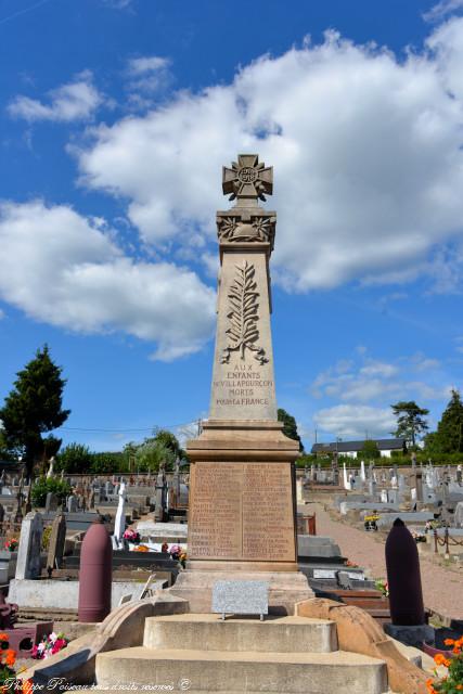
[[273,614],[313,596],[298,571],[294,461],[278,421],[209,420],[188,444],[192,462],[188,570],[171,592],[210,612],[218,580],[265,580]]

